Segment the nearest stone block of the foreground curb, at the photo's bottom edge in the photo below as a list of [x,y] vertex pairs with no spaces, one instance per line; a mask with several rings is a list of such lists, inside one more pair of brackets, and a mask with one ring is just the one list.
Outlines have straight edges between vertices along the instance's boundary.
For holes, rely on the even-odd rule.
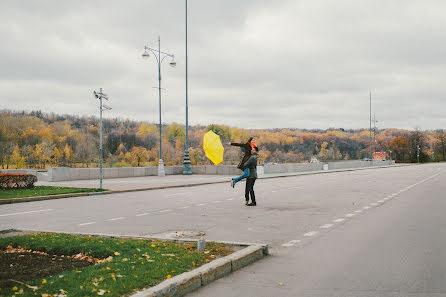
[[201,287],[201,274],[190,271],[167,279],[147,290],[131,295],[132,297],[179,297]]

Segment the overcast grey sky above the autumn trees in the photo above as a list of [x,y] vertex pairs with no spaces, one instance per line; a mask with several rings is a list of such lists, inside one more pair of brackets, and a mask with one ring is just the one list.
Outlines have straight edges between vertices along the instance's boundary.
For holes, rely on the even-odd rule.
[[[189,124],[446,128],[446,1],[189,0]],[[185,1],[0,0],[4,109],[185,123]]]

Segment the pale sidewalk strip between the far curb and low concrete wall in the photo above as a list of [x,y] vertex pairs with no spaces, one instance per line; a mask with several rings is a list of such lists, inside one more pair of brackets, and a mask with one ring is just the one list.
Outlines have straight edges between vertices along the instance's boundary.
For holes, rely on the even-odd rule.
[[[277,178],[286,176],[298,176],[308,174],[323,174],[342,171],[353,170],[366,170],[383,167],[396,167],[407,165],[388,165],[388,166],[374,166],[363,168],[346,168],[346,169],[334,169],[334,170],[317,170],[306,172],[286,172],[286,173],[271,173],[260,175],[259,178]],[[233,175],[167,175],[164,177],[159,176],[141,176],[141,177],[127,177],[127,178],[113,178],[103,179],[103,188],[112,191],[128,191],[128,190],[144,190],[144,189],[156,189],[166,187],[179,187],[179,186],[193,186],[193,185],[205,185],[214,183],[230,182]],[[99,180],[75,180],[64,182],[37,182],[37,186],[59,186],[59,187],[79,187],[79,188],[99,188]]]

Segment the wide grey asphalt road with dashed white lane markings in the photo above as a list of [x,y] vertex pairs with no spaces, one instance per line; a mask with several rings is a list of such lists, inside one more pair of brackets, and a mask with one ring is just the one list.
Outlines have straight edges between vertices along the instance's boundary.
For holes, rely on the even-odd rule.
[[[446,296],[446,164],[0,206],[0,229],[262,242],[271,256],[191,296]],[[198,234],[198,233],[197,233]]]

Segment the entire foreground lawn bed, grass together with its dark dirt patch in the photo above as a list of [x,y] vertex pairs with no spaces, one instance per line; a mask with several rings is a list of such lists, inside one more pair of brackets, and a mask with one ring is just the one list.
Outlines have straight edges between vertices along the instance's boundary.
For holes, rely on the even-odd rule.
[[[217,243],[198,252],[192,243],[55,233],[0,238],[0,296],[129,295],[232,252]],[[73,255],[92,263],[67,269]]]

